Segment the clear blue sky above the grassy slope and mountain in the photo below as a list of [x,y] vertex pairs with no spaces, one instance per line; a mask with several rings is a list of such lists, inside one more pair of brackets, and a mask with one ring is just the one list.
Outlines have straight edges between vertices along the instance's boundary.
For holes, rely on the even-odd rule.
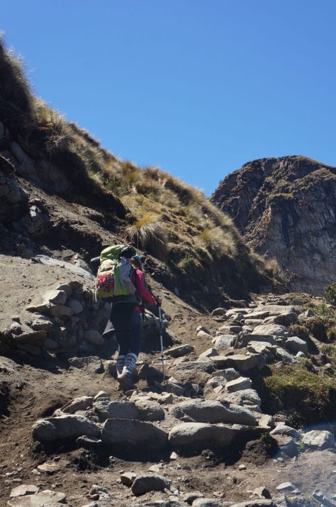
[[103,146],[208,195],[262,157],[336,165],[333,0],[11,0],[33,88]]

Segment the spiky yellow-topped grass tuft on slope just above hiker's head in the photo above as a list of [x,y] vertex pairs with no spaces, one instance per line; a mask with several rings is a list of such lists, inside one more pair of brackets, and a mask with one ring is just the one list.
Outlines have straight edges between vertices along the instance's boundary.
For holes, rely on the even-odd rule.
[[137,248],[147,250],[158,259],[164,260],[167,254],[167,231],[160,216],[147,212],[127,229],[131,243]]

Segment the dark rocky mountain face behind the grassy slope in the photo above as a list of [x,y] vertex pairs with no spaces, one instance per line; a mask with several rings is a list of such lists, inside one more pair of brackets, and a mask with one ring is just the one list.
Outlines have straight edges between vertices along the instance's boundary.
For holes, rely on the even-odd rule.
[[336,168],[302,156],[247,162],[211,196],[249,244],[275,258],[289,288],[322,294],[336,280]]

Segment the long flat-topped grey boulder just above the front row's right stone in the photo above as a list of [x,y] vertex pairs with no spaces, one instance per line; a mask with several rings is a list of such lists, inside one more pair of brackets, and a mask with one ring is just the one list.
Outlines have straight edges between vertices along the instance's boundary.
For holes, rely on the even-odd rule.
[[178,419],[187,416],[197,422],[224,422],[251,426],[257,423],[249,410],[234,405],[225,406],[215,400],[187,400],[174,405],[170,413]]

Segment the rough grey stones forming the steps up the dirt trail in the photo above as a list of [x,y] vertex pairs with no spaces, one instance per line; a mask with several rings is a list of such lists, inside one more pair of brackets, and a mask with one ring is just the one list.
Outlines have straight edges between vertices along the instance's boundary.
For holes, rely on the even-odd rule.
[[[329,431],[297,430],[286,424],[283,417],[264,414],[261,409],[262,400],[253,384],[256,371],[274,361],[279,367],[288,360],[299,363],[293,355],[296,350],[292,349],[285,323],[307,316],[295,307],[279,306],[223,312],[221,324],[224,320],[224,331],[231,334],[222,334],[223,325],[217,336],[214,336],[216,331],[197,328],[198,336],[207,337],[215,346],[202,352],[196,360],[191,360],[195,356],[190,344],[165,351],[166,371],[171,376],[164,385],[157,385],[153,390],[130,391],[122,401],[111,401],[104,391],[95,397],[74,399],[52,417],[37,421],[32,428],[33,439],[50,442],[68,438],[86,449],[112,445],[128,451],[134,449],[136,455],[139,448],[169,450],[173,461],[190,450],[196,453],[212,446],[225,450],[242,438],[256,439],[265,432],[277,442],[282,455],[290,457],[297,456],[299,449],[300,452],[335,449]],[[233,333],[233,327],[239,328],[239,332]],[[112,366],[110,361],[108,371],[112,372]],[[137,368],[142,378],[161,374],[158,364],[139,363]],[[227,498],[225,502],[221,498],[206,498],[199,492],[183,494],[178,489],[171,490],[164,468],[164,464],[154,465],[149,469],[150,474],[140,476],[131,470],[120,476],[120,482],[131,487],[134,495],[162,491],[169,495],[169,505],[222,507],[228,503]],[[280,491],[281,487],[284,485],[277,489]],[[253,499],[237,506],[281,504],[278,498],[270,500],[264,487],[257,488],[250,498]]]

